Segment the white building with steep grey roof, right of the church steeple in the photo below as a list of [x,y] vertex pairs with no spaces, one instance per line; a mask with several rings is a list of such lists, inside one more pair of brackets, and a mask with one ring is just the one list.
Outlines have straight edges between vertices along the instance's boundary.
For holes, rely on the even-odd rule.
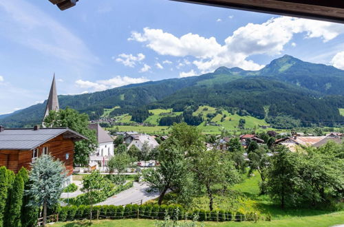
[[107,161],[114,156],[114,139],[98,124],[89,124],[96,131],[98,148],[89,156],[89,166],[99,171],[107,171]]

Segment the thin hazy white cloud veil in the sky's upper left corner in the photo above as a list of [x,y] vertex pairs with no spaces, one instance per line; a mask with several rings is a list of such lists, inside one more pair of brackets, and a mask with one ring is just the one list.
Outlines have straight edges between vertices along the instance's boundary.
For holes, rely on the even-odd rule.
[[29,1],[0,1],[0,35],[69,64],[99,62],[82,39]]

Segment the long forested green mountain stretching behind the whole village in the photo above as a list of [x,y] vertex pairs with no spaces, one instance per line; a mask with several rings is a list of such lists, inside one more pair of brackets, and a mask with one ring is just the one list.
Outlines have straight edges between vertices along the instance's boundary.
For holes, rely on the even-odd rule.
[[[257,118],[288,116],[303,125],[344,122],[338,108],[344,107],[344,71],[332,66],[303,62],[292,56],[273,60],[259,71],[219,67],[215,72],[189,78],[173,78],[127,85],[92,94],[58,96],[60,107],[89,114],[91,119],[110,114],[147,114],[138,109],[173,108],[191,105],[226,107]],[[43,104],[0,116],[0,125],[25,127],[41,122]],[[145,118],[146,116],[143,116]],[[140,118],[142,120],[142,118]]]

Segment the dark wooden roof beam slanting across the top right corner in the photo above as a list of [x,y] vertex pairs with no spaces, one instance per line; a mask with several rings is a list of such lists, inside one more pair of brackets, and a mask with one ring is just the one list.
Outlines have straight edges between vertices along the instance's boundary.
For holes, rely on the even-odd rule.
[[341,0],[171,0],[206,6],[233,8],[344,23],[344,1]]

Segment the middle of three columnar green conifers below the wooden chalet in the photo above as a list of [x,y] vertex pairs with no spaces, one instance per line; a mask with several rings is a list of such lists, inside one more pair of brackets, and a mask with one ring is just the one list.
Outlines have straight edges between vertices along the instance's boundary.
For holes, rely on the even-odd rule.
[[24,181],[21,174],[14,178],[12,193],[10,195],[10,209],[8,210],[7,225],[21,226],[21,205],[23,204]]

